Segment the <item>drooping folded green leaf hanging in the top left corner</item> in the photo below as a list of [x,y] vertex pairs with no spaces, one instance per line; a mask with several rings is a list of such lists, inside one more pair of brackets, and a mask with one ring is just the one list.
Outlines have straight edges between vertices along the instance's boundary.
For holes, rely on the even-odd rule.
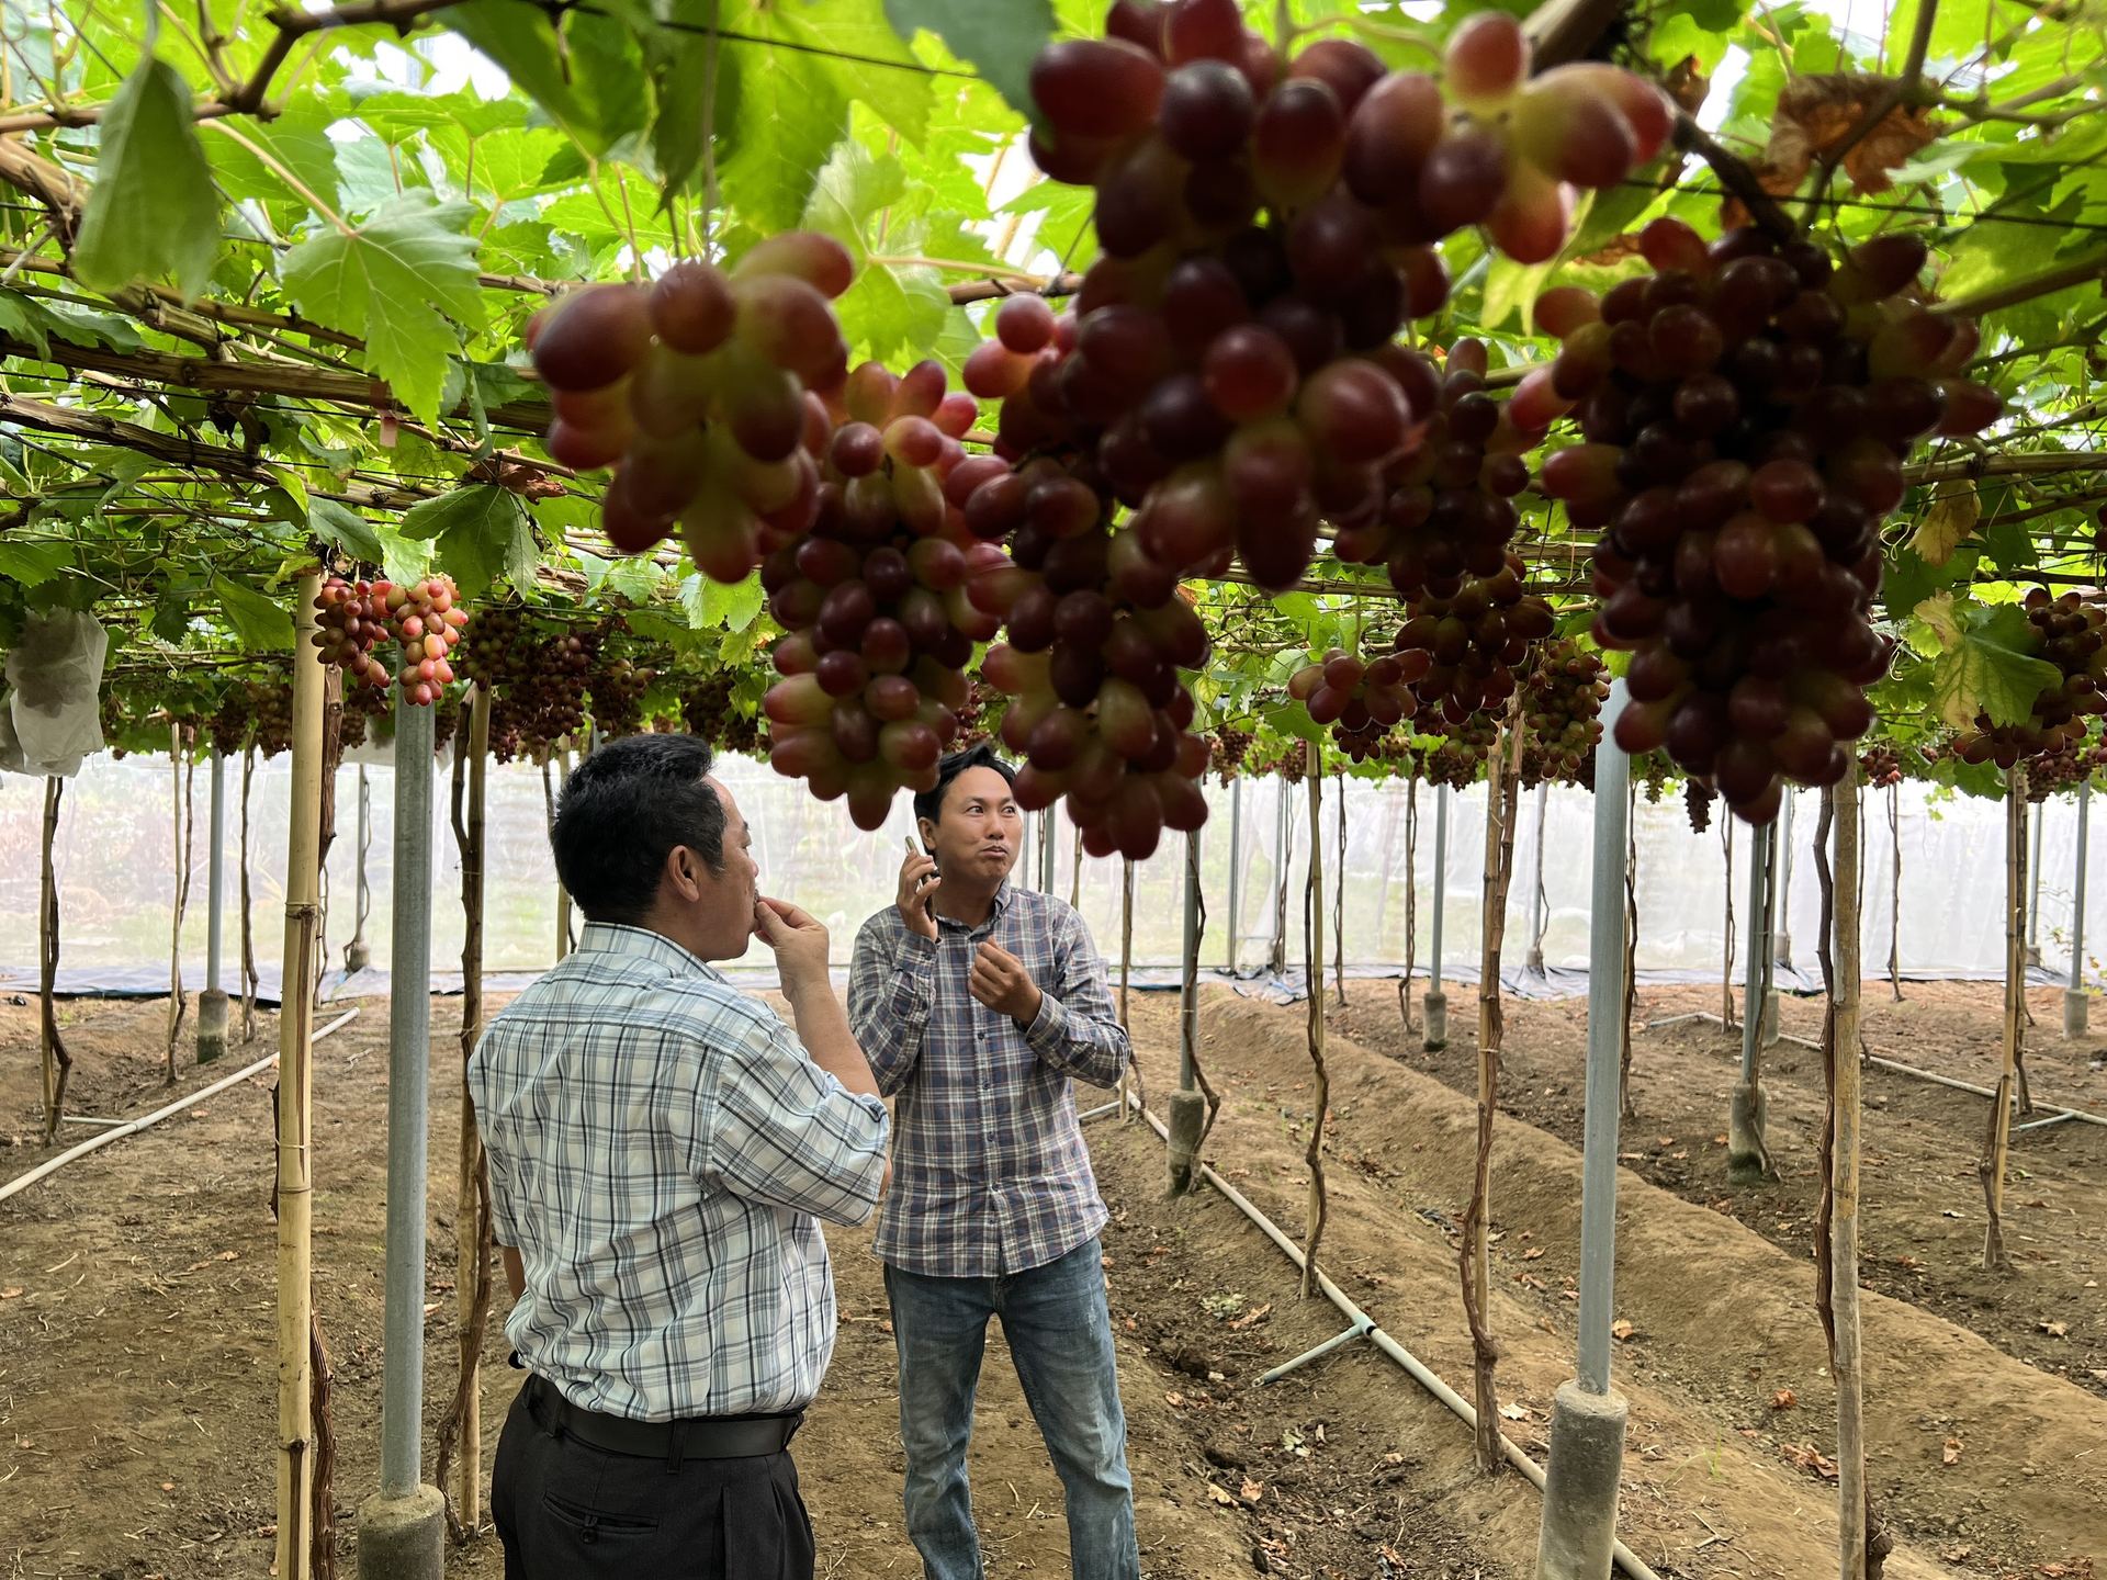
[[175,67],[139,61],[103,114],[95,187],[74,240],[74,278],[93,291],[175,276],[185,301],[219,257],[219,192]]

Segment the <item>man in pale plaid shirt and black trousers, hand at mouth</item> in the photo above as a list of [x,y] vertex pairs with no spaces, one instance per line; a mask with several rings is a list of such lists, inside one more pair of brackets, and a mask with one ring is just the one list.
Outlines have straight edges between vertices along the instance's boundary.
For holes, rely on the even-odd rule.
[[[811,1580],[788,1443],[834,1350],[820,1222],[885,1184],[885,1104],[826,929],[756,893],[691,735],[603,746],[550,843],[579,948],[485,1032],[468,1087],[531,1371],[491,1515],[506,1580]],[[775,950],[792,1032],[710,961]]]

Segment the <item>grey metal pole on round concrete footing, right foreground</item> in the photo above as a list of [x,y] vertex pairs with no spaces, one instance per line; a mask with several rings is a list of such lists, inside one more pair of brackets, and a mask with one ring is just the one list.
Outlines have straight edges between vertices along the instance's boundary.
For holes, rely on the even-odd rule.
[[1551,1401],[1551,1460],[1536,1538],[1538,1580],[1601,1580],[1616,1553],[1616,1492],[1629,1405],[1610,1386],[1616,1312],[1616,1146],[1622,1108],[1624,994],[1599,990],[1624,975],[1624,849],[1631,758],[1616,746],[1624,683],[1610,687],[1595,748],[1595,872],[1589,895],[1587,1140],[1580,1157],[1578,1376]]

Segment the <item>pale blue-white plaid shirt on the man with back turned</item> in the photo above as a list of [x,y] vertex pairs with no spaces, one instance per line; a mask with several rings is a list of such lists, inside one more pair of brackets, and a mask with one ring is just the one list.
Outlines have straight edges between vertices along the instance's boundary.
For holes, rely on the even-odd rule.
[[834,1352],[815,1220],[862,1224],[885,1104],[659,933],[592,923],[468,1066],[520,1359],[632,1420],[801,1409]]

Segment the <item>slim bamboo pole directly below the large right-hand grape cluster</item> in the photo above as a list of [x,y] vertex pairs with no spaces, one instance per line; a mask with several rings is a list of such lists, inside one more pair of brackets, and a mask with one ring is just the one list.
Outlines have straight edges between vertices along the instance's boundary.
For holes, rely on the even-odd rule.
[[1852,758],[1831,790],[1835,803],[1835,1003],[1831,1068],[1835,1150],[1829,1165],[1829,1289],[1835,1340],[1829,1371],[1837,1384],[1837,1557],[1844,1580],[1865,1580],[1865,1369],[1858,1346],[1858,761]]

